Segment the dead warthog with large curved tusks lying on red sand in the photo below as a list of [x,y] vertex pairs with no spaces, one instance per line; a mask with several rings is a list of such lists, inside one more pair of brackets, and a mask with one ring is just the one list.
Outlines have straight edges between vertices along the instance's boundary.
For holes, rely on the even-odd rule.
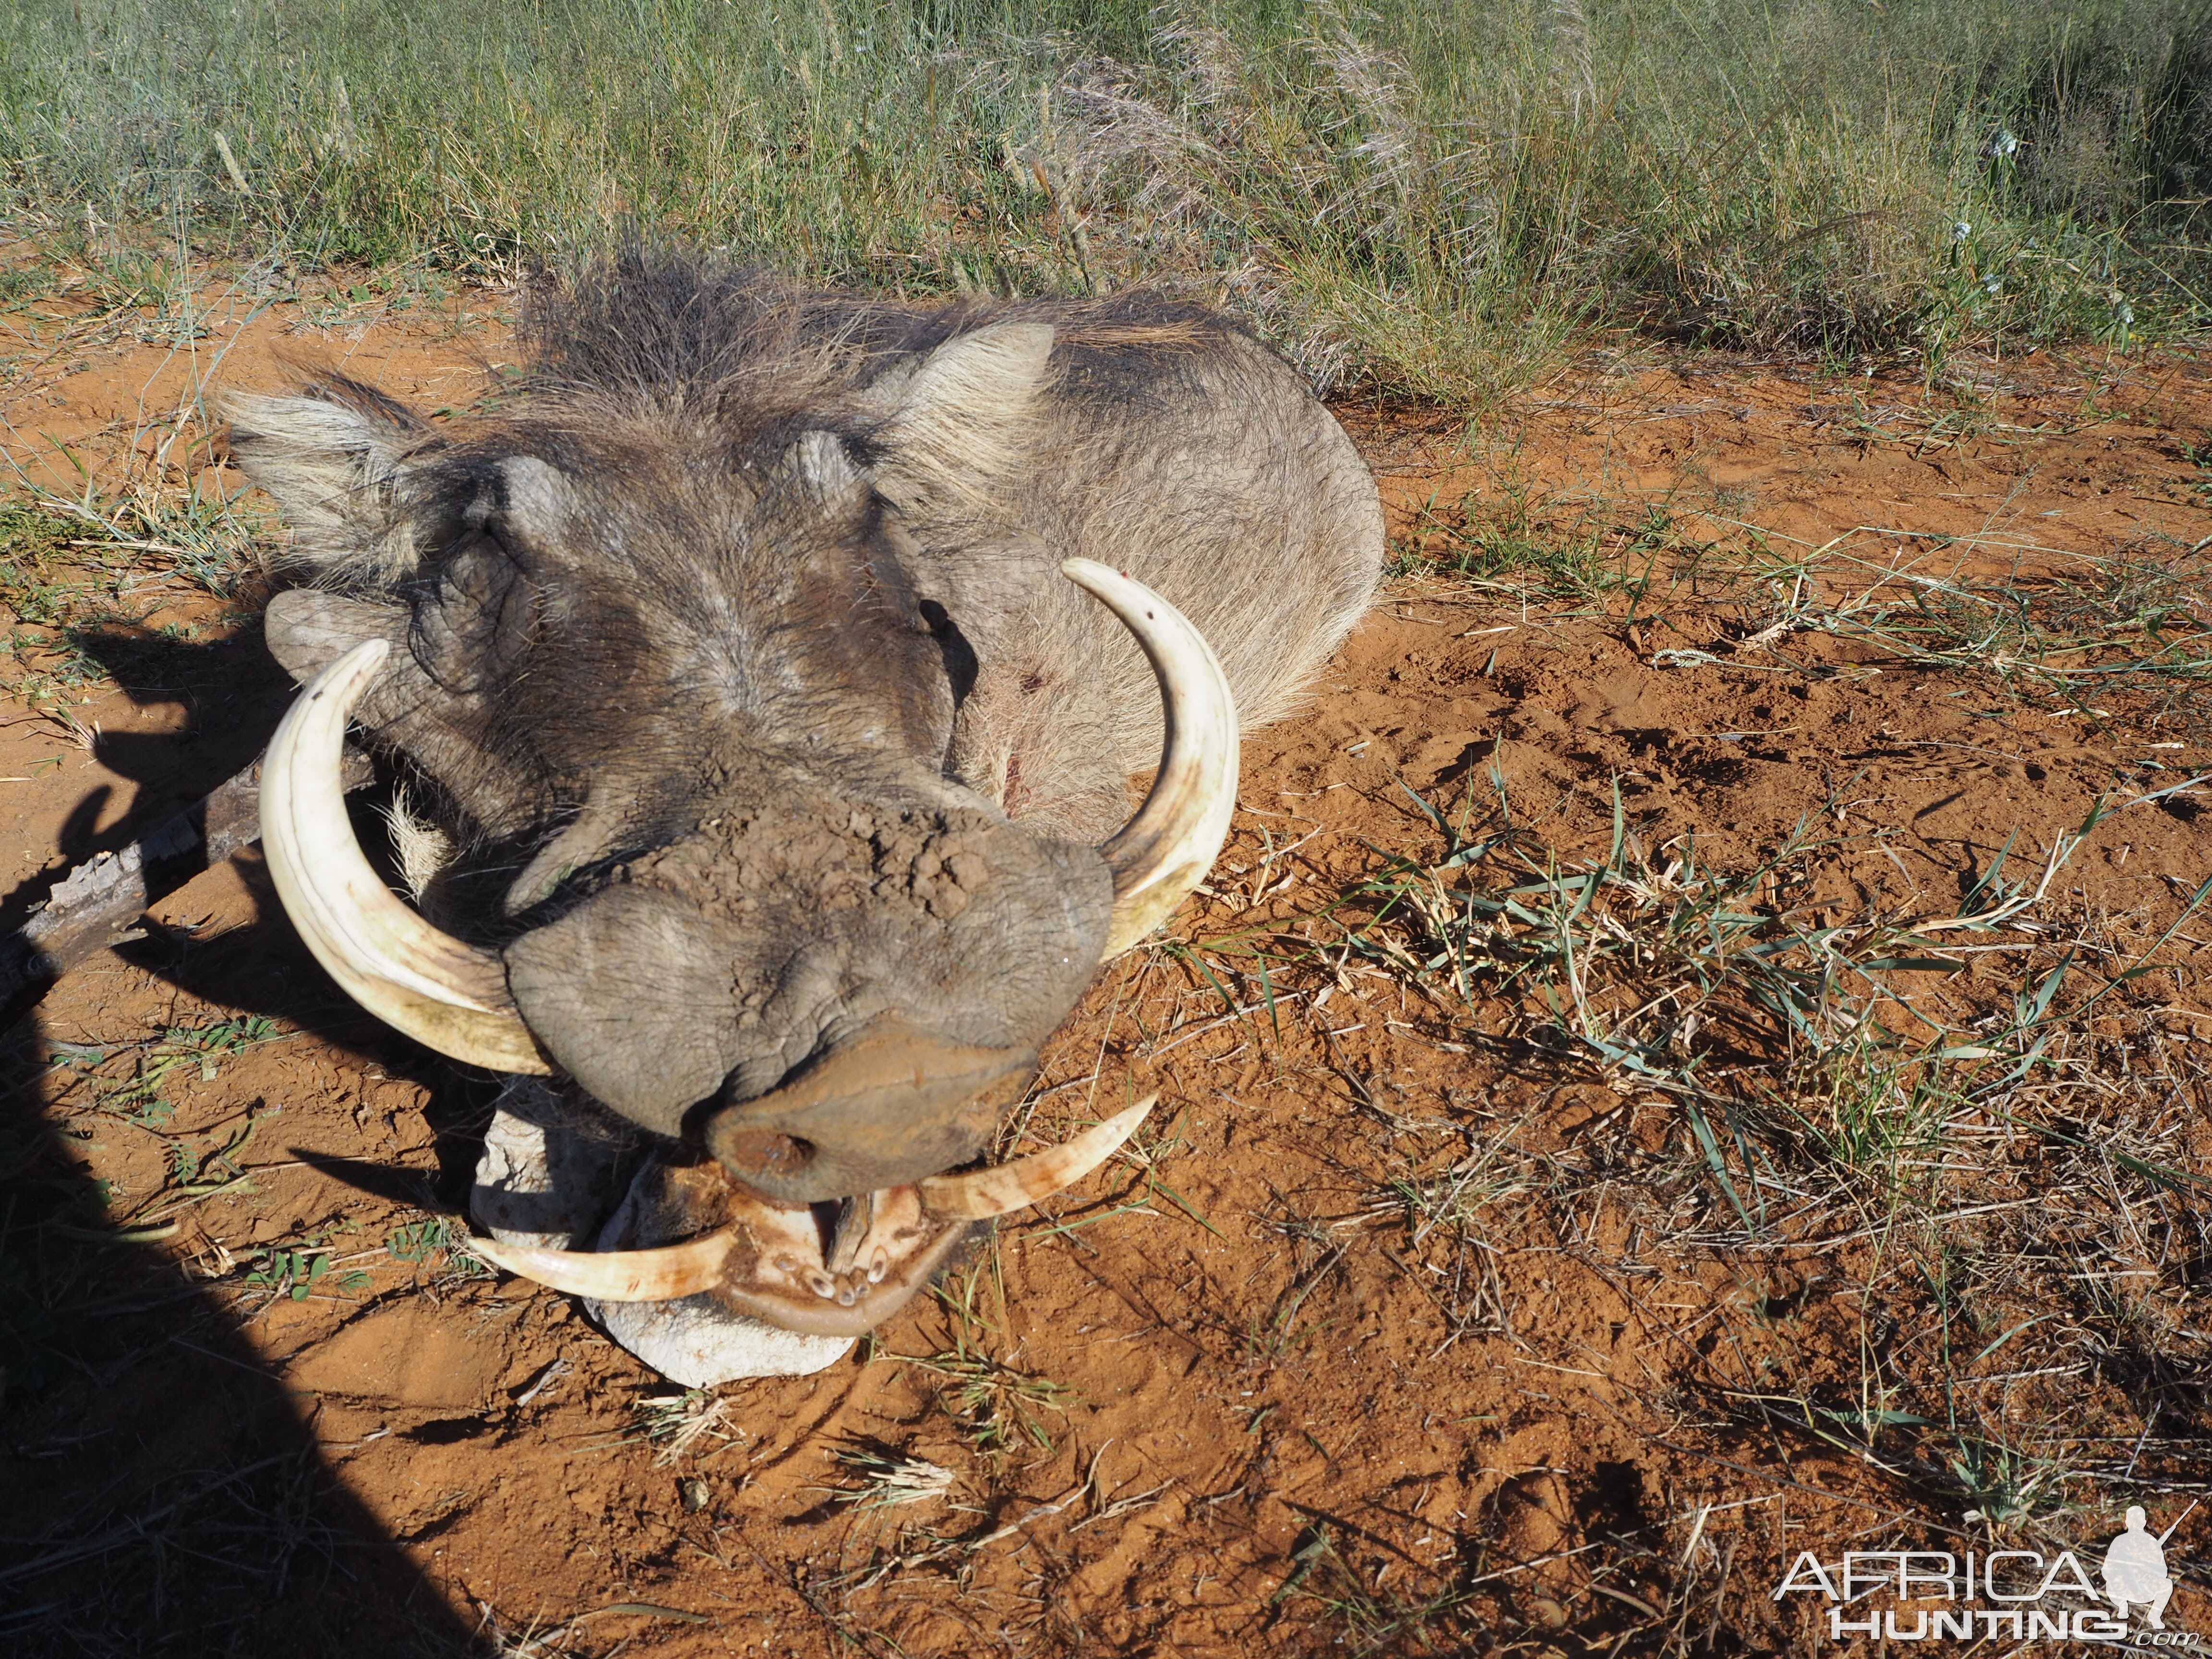
[[[920,310],[630,252],[522,338],[511,400],[445,425],[338,376],[226,400],[307,575],[268,611],[305,686],[270,869],[369,1011],[546,1079],[493,1126],[484,1254],[832,1338],[759,1369],[812,1367],[1141,1117],[960,1172],[1203,878],[1237,717],[1371,597],[1376,487],[1296,374],[1157,299]],[[462,849],[438,925],[347,827],[347,719]]]

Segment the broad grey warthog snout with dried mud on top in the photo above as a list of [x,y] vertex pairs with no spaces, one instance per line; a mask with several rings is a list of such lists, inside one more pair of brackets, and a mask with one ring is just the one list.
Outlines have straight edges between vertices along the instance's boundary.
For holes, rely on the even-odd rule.
[[836,1199],[982,1148],[1113,907],[1097,849],[975,807],[723,803],[518,918],[504,962],[595,1099],[672,1137],[754,1130],[712,1146],[734,1177]]

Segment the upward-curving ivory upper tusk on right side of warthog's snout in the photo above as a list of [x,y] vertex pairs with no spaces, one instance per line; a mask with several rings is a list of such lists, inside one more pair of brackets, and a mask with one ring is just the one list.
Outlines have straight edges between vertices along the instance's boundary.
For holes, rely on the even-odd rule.
[[1060,575],[1137,635],[1168,726],[1152,792],[1099,847],[1113,872],[1104,951],[1113,958],[1168,920],[1221,854],[1237,810],[1237,706],[1212,646],[1172,604],[1093,560],[1066,560]]

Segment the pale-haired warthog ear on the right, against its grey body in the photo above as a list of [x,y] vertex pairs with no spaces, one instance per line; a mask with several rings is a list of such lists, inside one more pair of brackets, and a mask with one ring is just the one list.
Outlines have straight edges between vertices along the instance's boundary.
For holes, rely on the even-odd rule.
[[989,498],[1026,447],[1051,354],[1051,323],[1009,319],[878,380],[869,394],[885,411],[876,473],[883,498],[894,507]]

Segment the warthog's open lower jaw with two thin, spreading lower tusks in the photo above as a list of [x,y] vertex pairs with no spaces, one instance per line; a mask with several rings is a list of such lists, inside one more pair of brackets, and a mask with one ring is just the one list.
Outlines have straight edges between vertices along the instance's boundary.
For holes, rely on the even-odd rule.
[[849,1199],[823,1237],[812,1206],[774,1206],[719,1166],[686,1170],[719,1186],[728,1221],[655,1250],[542,1250],[469,1239],[469,1252],[518,1279],[604,1303],[714,1296],[737,1314],[805,1336],[860,1336],[914,1298],[973,1221],[1062,1192],[1137,1130],[1159,1095],[1031,1157]]

